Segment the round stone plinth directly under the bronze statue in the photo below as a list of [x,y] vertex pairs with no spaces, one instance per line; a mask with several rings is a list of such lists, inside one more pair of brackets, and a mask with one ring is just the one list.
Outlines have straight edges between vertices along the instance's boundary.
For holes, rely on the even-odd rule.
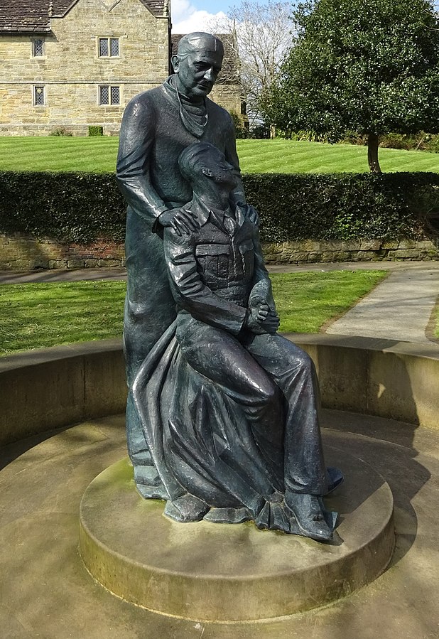
[[137,493],[127,458],[85,491],[80,553],[100,584],[151,611],[196,621],[291,615],[373,581],[394,549],[394,502],[371,466],[337,449],[345,473],[327,507],[340,513],[332,544],[257,530],[253,522],[181,524]]

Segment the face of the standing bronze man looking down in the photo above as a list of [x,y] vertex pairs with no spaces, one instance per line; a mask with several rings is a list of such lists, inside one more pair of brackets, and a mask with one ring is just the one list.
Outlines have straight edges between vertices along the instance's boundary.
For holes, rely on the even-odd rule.
[[194,50],[179,60],[173,57],[178,91],[190,100],[201,100],[211,92],[222,65],[222,51]]

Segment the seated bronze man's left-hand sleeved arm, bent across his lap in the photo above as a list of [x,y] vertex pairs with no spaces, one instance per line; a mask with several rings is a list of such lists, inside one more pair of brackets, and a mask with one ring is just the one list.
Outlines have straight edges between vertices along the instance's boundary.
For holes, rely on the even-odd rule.
[[192,234],[177,235],[168,227],[163,236],[170,289],[178,308],[195,319],[237,335],[246,321],[246,308],[216,296],[197,273]]

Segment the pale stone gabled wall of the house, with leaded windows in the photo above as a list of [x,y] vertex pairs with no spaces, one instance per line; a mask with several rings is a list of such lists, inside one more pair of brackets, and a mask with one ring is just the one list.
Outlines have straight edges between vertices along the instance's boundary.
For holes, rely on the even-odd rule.
[[[90,18],[92,16],[92,18]],[[32,56],[32,37],[0,37],[0,134],[47,135],[64,127],[76,135],[88,125],[119,131],[131,97],[168,75],[166,17],[154,17],[139,0],[109,11],[99,0],[80,0],[65,18],[52,18],[44,55]],[[99,36],[119,37],[119,56],[99,58]],[[120,105],[99,105],[99,85],[120,87]],[[44,85],[44,106],[33,105],[33,86]]]

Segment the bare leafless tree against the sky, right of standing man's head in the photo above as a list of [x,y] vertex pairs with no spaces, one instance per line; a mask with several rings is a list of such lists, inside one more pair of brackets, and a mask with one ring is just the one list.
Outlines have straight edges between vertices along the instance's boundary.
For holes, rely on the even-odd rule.
[[291,44],[291,3],[269,0],[259,4],[242,0],[227,18],[215,21],[215,33],[232,33],[240,62],[240,82],[250,124],[261,121],[259,96],[278,76],[281,61]]

